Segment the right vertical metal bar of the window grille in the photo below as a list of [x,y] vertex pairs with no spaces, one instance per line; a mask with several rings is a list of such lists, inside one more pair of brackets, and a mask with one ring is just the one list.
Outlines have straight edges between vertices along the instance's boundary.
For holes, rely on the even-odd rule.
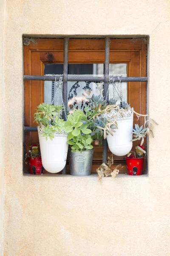
[[[105,70],[104,70],[104,97],[106,99],[109,86],[109,59],[110,59],[110,38],[105,38]],[[108,99],[107,99],[108,100]],[[107,140],[102,141],[103,145],[103,163],[108,159],[108,143]]]

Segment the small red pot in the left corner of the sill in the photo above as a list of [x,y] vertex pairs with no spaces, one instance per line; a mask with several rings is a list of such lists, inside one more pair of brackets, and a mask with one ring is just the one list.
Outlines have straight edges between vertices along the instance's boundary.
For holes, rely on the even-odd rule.
[[44,167],[42,166],[41,157],[29,158],[29,173],[30,174],[44,173]]

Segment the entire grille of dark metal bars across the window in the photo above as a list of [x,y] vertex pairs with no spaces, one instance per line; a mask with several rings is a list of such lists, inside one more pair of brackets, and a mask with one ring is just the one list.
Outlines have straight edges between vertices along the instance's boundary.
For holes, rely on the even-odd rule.
[[[105,38],[105,68],[104,77],[91,77],[91,76],[68,76],[68,44],[69,38],[64,38],[64,63],[63,63],[63,87],[62,87],[62,97],[64,105],[67,108],[67,82],[68,81],[89,81],[89,82],[104,82],[104,97],[107,95],[109,86],[109,56],[110,56],[110,38]],[[24,80],[41,80],[41,81],[59,81],[59,76],[23,76]],[[115,81],[118,81],[115,78]],[[147,77],[121,77],[122,82],[147,82]],[[67,110],[67,109],[66,109]],[[63,116],[65,119],[65,116]],[[37,127],[24,127],[24,132],[37,131]],[[108,143],[107,140],[103,140],[103,162],[107,161],[108,158]],[[62,174],[66,173],[66,168],[63,169]]]

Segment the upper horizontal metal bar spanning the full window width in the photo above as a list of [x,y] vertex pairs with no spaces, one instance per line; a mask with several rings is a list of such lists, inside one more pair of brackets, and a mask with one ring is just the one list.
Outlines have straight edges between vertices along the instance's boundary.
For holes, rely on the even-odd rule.
[[[23,77],[24,80],[36,81],[55,81],[55,76],[27,76]],[[122,82],[147,82],[147,77],[120,77]],[[56,76],[56,81],[59,81],[59,76]],[[85,81],[85,82],[104,82],[104,76],[68,76],[68,81]],[[118,79],[115,77],[115,81]]]

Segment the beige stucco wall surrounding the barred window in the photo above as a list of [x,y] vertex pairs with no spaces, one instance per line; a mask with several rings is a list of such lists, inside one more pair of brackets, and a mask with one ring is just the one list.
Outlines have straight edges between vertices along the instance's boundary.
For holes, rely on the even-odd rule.
[[[170,1],[1,2],[1,255],[169,256]],[[23,176],[23,34],[150,36],[147,109],[159,126],[149,141],[149,175],[102,183],[95,175]]]

